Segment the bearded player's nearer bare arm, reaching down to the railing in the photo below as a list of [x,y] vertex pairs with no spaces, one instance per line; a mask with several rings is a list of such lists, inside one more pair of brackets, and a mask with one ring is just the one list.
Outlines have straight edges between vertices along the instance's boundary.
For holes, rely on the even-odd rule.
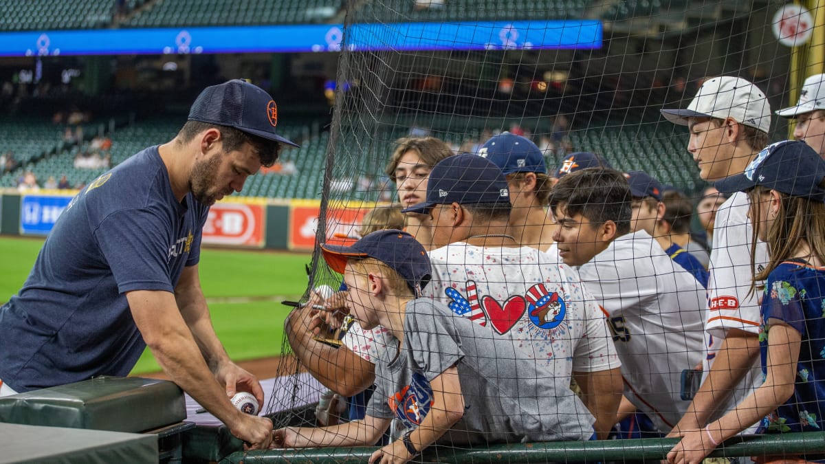
[[[271,442],[270,419],[236,410],[223,386],[206,366],[193,331],[178,310],[177,301],[167,291],[129,291],[126,293],[134,324],[163,372],[215,417],[229,426],[230,432],[252,449]],[[203,321],[198,321],[202,328]],[[214,336],[214,331],[212,332]],[[224,353],[225,354],[225,353]]]

